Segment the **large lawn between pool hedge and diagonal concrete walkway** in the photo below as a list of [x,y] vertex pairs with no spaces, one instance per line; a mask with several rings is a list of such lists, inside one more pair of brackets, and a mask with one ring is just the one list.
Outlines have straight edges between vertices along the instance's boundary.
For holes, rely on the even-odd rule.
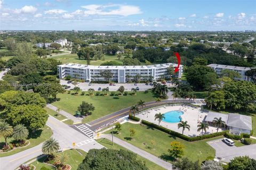
[[[135,136],[132,137],[132,140],[130,140],[130,128],[135,130]],[[106,133],[110,133],[110,131]],[[183,157],[187,157],[192,161],[199,160],[199,162],[202,162],[209,156],[215,156],[215,150],[206,142],[222,137],[219,136],[202,141],[188,142],[146,125],[131,123],[123,124],[120,134],[115,134],[115,136],[167,161],[173,160],[167,151],[171,148],[170,143],[178,141],[185,146],[185,154]]]

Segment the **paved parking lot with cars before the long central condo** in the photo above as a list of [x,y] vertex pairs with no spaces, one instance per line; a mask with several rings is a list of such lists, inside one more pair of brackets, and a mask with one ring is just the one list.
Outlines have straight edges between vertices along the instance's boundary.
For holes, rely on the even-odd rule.
[[[70,88],[74,88],[74,85],[71,83],[67,83],[68,81],[66,80],[60,80],[60,84],[61,85],[68,85],[71,86]],[[171,83],[166,83],[166,85],[168,87],[173,87],[173,85]],[[120,86],[124,86],[125,91],[131,91],[132,88],[136,88],[139,87],[140,90],[139,91],[145,91],[148,90],[149,88],[153,88],[153,86],[150,85],[146,85],[145,83],[138,83],[137,86],[134,85],[134,83],[116,83],[115,86],[110,86],[109,84],[92,84],[91,86],[89,86],[89,83],[79,83],[77,85],[78,87],[81,88],[82,91],[87,91],[89,88],[93,88],[95,91],[98,91],[98,88],[106,88],[109,87],[109,91],[117,91],[117,89]]]

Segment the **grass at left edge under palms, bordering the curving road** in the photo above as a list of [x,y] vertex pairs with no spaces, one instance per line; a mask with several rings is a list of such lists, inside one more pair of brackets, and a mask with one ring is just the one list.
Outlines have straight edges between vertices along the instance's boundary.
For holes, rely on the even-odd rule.
[[[31,133],[28,137],[28,140],[30,142],[30,144],[27,147],[24,148],[16,148],[14,150],[12,150],[11,152],[6,152],[6,153],[0,153],[0,157],[5,157],[5,156],[9,156],[9,155],[13,155],[15,153],[21,152],[23,150],[35,147],[36,145],[44,142],[45,140],[49,139],[52,135],[52,131],[51,128],[48,126],[45,126],[42,129],[38,129],[38,131],[36,131],[35,133]],[[7,142],[10,143],[13,140],[12,137],[7,138]],[[4,138],[0,137],[0,145],[4,144]]]

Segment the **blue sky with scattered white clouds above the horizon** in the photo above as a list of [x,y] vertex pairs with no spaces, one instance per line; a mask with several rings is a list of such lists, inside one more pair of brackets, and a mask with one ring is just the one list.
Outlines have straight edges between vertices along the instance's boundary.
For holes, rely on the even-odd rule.
[[256,1],[0,0],[1,30],[256,30]]

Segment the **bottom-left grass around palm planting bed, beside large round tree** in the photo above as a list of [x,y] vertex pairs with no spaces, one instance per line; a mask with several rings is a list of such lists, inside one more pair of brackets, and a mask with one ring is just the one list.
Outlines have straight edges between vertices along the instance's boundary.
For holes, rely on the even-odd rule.
[[[82,163],[83,159],[86,156],[86,152],[83,150],[79,150],[80,153],[74,149],[66,150],[64,152],[67,153],[67,155],[68,155],[66,164],[70,165],[72,167],[72,169],[77,169],[78,165]],[[81,155],[81,153],[82,153],[82,155]],[[60,153],[58,153],[58,154],[60,154]],[[45,159],[45,157],[38,159],[31,164],[34,165],[36,167],[36,169],[41,169],[41,167],[45,166],[47,168],[55,170],[55,168],[53,166],[44,164],[43,163],[44,159]]]

